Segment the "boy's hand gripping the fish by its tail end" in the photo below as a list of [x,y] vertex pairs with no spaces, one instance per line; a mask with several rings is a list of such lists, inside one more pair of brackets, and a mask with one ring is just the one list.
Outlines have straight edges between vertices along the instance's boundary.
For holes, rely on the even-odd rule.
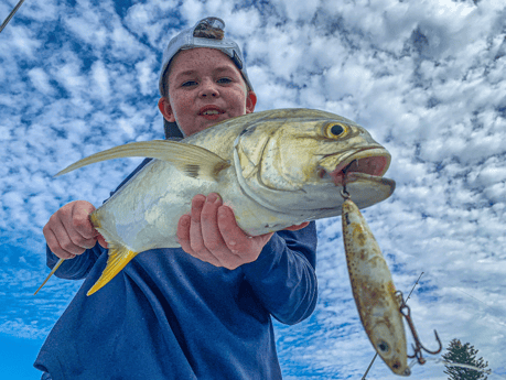
[[61,259],[74,259],[97,240],[104,248],[107,242],[89,221],[95,206],[86,200],[75,200],[54,213],[42,231],[51,251]]

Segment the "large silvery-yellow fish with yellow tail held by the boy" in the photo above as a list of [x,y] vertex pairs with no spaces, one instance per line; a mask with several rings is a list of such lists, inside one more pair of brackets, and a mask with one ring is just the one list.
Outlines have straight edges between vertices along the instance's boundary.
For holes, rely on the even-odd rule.
[[305,108],[248,113],[181,141],[111,148],[56,176],[127,156],[153,160],[90,214],[109,257],[87,295],[140,252],[180,247],[177,221],[190,213],[197,194],[218,193],[238,226],[258,236],[340,215],[345,171],[355,175],[346,188],[360,208],[388,198],[395,189],[395,182],[384,177],[390,153],[369,132],[344,117]]

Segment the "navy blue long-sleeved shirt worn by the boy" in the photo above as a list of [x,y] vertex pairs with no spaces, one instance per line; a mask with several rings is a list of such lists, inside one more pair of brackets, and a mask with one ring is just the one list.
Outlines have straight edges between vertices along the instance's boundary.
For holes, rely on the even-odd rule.
[[[96,245],[55,273],[86,280],[34,363],[53,380],[281,379],[271,316],[295,324],[316,304],[314,221],[276,232],[235,270],[149,250],[86,296],[106,251]],[[56,261],[47,249],[49,267]]]

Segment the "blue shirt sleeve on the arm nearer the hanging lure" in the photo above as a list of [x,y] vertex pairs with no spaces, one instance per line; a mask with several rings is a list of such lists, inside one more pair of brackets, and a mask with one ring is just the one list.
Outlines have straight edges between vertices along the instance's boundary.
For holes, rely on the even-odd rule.
[[293,325],[316,306],[316,224],[278,231],[258,259],[244,264],[246,280],[263,306],[281,323]]

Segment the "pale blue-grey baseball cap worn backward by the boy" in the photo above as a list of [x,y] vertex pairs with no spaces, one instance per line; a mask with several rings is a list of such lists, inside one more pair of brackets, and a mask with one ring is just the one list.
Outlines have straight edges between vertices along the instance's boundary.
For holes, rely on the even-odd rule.
[[[190,50],[195,47],[209,47],[217,48],[218,51],[225,53],[230,57],[230,59],[236,64],[237,68],[243,74],[246,84],[249,86],[249,89],[252,90],[251,83],[246,72],[246,64],[240,52],[239,45],[229,39],[224,39],[224,29],[225,22],[222,19],[209,17],[202,19],[194,26],[183,30],[180,34],[174,36],[163,52],[162,58],[162,70],[160,73],[160,94],[166,94],[164,91],[165,84],[163,83],[163,76],[174,57],[182,50]],[[205,35],[206,31],[214,31],[215,37],[198,37],[195,35]],[[198,33],[200,32],[200,33]],[[217,35],[217,37],[216,37]]]

